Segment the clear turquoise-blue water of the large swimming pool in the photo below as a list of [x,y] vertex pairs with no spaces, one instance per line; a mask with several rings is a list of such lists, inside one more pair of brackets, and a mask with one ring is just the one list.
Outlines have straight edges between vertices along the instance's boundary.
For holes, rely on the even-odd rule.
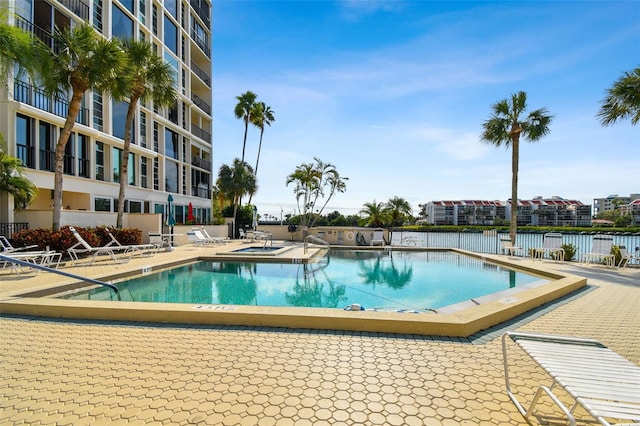
[[[136,302],[425,311],[539,281],[450,252],[337,250],[314,264],[202,261],[117,285]],[[111,300],[113,292],[63,297]]]

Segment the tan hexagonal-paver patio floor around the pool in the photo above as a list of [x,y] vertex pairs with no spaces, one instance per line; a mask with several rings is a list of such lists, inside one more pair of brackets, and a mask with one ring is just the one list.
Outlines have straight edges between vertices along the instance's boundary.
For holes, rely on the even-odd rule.
[[[594,287],[512,327],[595,338],[640,364],[640,269],[547,266]],[[467,340],[1,317],[0,424],[526,424],[504,391],[500,332]],[[530,397],[548,380],[516,359],[514,383]],[[532,424],[567,423],[550,403],[539,408]]]

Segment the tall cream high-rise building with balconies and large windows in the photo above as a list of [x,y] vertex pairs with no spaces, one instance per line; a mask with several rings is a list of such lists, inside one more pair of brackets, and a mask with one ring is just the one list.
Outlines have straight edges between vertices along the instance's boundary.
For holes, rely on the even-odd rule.
[[[4,0],[5,2],[7,0]],[[106,38],[145,40],[175,71],[172,107],[139,103],[133,124],[125,212],[188,211],[211,219],[212,89],[210,0],[8,0],[9,24],[51,45],[54,28],[89,22]],[[68,102],[47,97],[27,76],[10,77],[0,98],[0,133],[38,187],[29,209],[51,210],[54,158]],[[64,157],[62,205],[116,212],[127,104],[86,92]],[[12,205],[0,200],[0,222]],[[7,205],[9,204],[9,205]],[[64,225],[64,223],[62,224]]]

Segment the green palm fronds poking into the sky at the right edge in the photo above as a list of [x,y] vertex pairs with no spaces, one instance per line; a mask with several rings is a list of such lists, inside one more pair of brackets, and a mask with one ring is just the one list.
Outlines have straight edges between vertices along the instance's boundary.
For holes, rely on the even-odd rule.
[[625,72],[610,89],[602,101],[598,115],[603,126],[609,126],[618,119],[631,119],[634,126],[640,121],[640,67]]

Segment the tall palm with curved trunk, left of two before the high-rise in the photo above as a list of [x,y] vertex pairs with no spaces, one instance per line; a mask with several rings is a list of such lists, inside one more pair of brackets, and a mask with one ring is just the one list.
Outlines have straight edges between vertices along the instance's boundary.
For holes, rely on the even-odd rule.
[[58,137],[53,190],[53,231],[60,229],[64,151],[82,99],[88,90],[110,92],[118,76],[126,75],[126,56],[117,40],[102,38],[88,23],[54,32],[56,51],[42,67],[42,84],[47,93],[66,96],[71,92],[69,110]]

